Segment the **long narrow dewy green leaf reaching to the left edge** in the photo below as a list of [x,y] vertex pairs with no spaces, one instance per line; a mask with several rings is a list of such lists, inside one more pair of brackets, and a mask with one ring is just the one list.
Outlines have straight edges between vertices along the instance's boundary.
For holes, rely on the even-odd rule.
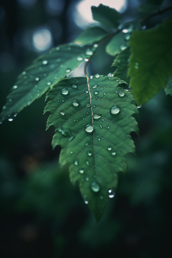
[[[87,51],[90,48],[91,50]],[[68,44],[54,48],[49,54],[38,57],[18,76],[7,97],[0,120],[3,121],[9,115],[18,113],[41,97],[55,83],[77,68],[84,58],[90,57],[94,50],[92,46],[80,47]]]

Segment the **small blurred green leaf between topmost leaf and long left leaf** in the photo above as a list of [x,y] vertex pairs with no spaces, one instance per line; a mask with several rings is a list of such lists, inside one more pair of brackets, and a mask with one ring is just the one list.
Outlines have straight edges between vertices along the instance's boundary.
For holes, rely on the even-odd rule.
[[101,27],[90,27],[85,29],[73,43],[78,45],[93,44],[108,35],[108,31]]

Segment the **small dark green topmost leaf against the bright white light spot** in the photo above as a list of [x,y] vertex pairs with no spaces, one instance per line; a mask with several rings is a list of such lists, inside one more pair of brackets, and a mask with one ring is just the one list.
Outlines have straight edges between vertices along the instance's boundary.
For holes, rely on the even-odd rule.
[[109,28],[117,28],[120,24],[120,13],[115,9],[100,4],[92,6],[93,19]]

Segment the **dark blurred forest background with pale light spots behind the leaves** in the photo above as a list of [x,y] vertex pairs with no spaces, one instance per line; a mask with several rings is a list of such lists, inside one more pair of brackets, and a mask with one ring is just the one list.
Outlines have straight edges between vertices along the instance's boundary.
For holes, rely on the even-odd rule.
[[[100,3],[120,11],[122,23],[143,17],[137,10],[141,0],[1,0],[1,109],[17,75],[51,47],[71,42],[93,22],[91,5]],[[165,1],[162,7],[169,4]],[[166,15],[148,20],[145,26],[155,26]],[[112,61],[102,45],[89,74],[113,72]],[[71,76],[77,75],[83,75],[82,65]],[[140,108],[140,138],[132,135],[136,155],[127,156],[129,174],[132,171],[136,178],[119,176],[116,195],[109,199],[99,223],[78,186],[70,184],[68,167],[59,168],[60,147],[54,151],[51,147],[54,128],[45,131],[49,114],[42,115],[44,97],[0,126],[1,257],[168,256],[171,97],[161,90]]]

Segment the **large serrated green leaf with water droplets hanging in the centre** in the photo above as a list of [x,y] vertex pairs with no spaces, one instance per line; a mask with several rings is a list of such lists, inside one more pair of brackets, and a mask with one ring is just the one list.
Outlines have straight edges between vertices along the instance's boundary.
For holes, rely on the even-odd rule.
[[119,87],[125,82],[99,76],[89,80],[89,88],[85,77],[62,79],[47,93],[45,108],[51,112],[47,128],[56,128],[53,148],[62,147],[60,164],[69,164],[71,182],[79,182],[98,221],[108,191],[116,190],[118,172],[126,171],[125,155],[135,151],[130,133],[138,133],[133,95]]

